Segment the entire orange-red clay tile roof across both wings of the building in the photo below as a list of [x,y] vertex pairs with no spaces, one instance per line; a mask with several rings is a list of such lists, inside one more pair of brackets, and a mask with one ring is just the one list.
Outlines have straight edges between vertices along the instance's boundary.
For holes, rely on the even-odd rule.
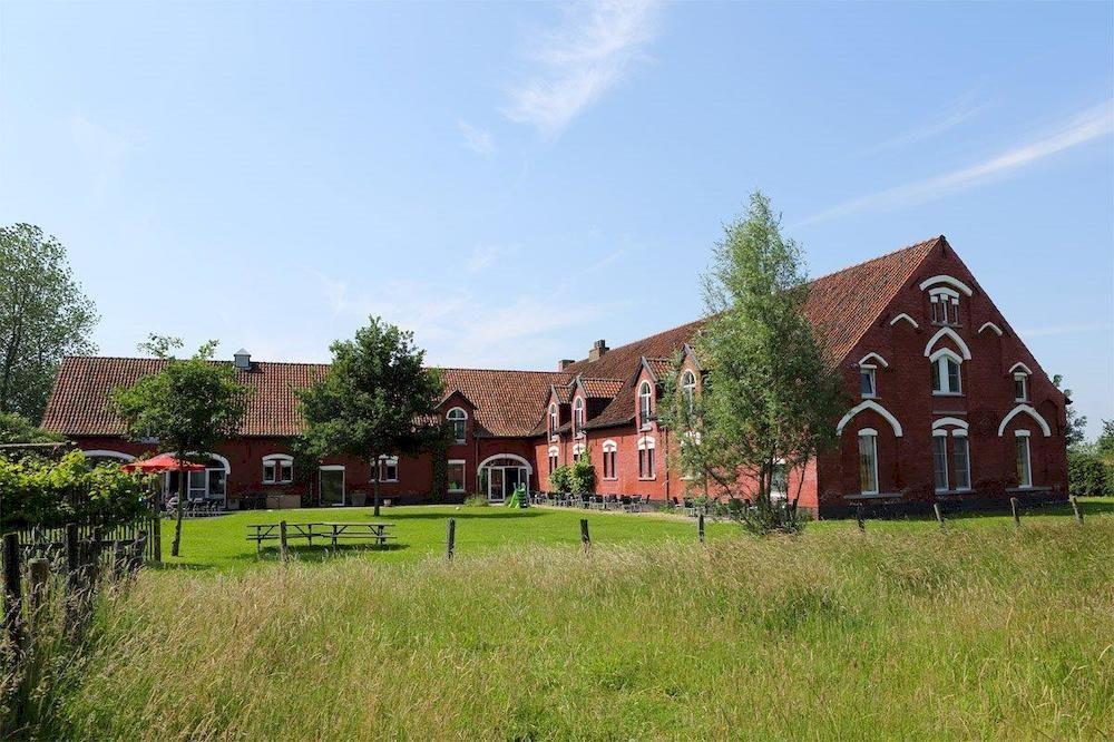
[[[847,355],[929,252],[944,242],[942,236],[935,237],[811,283],[804,312],[829,363],[834,365]],[[563,387],[579,374],[589,396],[612,399],[585,427],[624,424],[634,419],[634,377],[642,358],[646,357],[659,377],[667,373],[674,353],[692,341],[702,323],[703,320],[696,320],[620,345],[596,361],[578,361],[560,372],[442,369],[446,390],[460,390],[476,404],[478,435],[527,437],[545,432],[539,420],[544,422],[551,385],[563,394]],[[134,383],[162,364],[156,359],[65,359],[43,416],[43,427],[69,436],[120,435],[123,423],[107,409],[109,391]],[[238,371],[241,381],[256,390],[241,435],[296,435],[302,422],[294,390],[320,378],[325,368],[263,361],[254,363],[251,371]]]

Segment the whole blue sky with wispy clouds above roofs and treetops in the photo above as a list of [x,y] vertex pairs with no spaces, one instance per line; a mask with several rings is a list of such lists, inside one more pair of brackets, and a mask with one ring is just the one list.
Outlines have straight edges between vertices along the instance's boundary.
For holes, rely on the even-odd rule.
[[1114,12],[1015,4],[0,4],[0,222],[106,354],[553,368],[697,316],[755,187],[813,275],[946,234],[1114,418]]

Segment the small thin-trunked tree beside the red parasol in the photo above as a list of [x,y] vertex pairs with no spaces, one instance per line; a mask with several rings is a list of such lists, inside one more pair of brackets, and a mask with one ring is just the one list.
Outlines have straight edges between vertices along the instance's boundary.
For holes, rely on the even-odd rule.
[[[179,359],[177,338],[152,335],[139,345],[166,361],[157,373],[143,377],[131,387],[111,392],[111,406],[136,440],[156,439],[158,449],[182,460],[202,460],[216,445],[236,435],[247,407],[248,388],[236,381],[228,363],[214,363],[216,341]],[[170,555],[178,556],[182,543],[182,512],[186,500],[186,476],[178,477],[178,504]]]

